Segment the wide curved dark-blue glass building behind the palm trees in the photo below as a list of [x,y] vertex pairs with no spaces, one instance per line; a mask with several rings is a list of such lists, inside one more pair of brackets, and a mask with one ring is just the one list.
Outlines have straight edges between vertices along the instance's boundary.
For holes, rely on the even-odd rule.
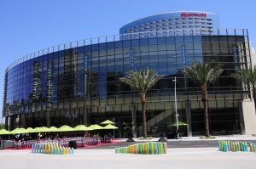
[[189,124],[181,132],[201,134],[201,89],[182,74],[183,66],[194,61],[224,68],[218,81],[209,87],[211,133],[241,133],[241,100],[250,93],[230,74],[251,66],[246,29],[138,31],[70,42],[29,54],[6,69],[3,116],[9,129],[74,127],[114,119],[118,137],[124,137],[125,132],[141,136],[139,95],[119,78],[129,70],[153,68],[164,77],[147,95],[148,135],[172,131],[174,77],[178,118]]

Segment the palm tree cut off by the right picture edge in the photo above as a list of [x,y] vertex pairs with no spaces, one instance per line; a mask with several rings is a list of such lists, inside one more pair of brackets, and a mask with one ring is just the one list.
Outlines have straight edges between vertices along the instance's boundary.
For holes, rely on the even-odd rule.
[[254,65],[254,67],[250,69],[237,70],[236,74],[232,74],[231,76],[235,77],[241,82],[244,82],[249,87],[252,87],[254,106],[256,109],[256,65]]

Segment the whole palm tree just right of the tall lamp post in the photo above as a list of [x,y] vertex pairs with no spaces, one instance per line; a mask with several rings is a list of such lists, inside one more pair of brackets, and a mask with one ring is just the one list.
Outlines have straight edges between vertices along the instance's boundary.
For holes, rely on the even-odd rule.
[[209,64],[195,62],[189,66],[183,68],[183,74],[188,76],[192,81],[194,81],[198,86],[201,87],[201,95],[204,105],[204,120],[205,120],[205,134],[206,137],[210,137],[209,130],[209,118],[208,118],[208,93],[207,87],[211,82],[216,80],[218,76],[223,72],[220,65],[212,67]]

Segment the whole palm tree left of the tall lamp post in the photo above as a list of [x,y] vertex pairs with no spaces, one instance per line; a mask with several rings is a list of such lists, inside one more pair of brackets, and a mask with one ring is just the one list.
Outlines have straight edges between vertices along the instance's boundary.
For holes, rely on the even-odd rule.
[[130,70],[125,77],[119,78],[119,81],[125,82],[131,88],[137,90],[141,96],[143,110],[143,136],[147,138],[147,119],[146,119],[146,93],[148,89],[154,86],[162,76],[154,72],[153,69],[141,69],[139,71]]

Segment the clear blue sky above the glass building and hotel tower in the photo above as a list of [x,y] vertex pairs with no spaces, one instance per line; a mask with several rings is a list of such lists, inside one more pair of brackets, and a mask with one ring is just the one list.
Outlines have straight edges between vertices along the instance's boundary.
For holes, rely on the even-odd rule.
[[255,0],[2,0],[0,114],[4,70],[26,54],[65,42],[118,34],[119,28],[132,20],[178,10],[218,14],[221,28],[247,28],[256,46],[255,6]]

